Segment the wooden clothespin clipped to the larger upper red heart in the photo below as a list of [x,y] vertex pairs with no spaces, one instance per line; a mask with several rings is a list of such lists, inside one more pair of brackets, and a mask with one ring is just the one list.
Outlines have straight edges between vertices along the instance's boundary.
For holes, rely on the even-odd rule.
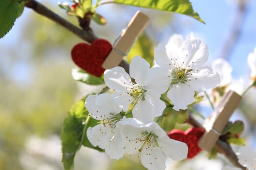
[[112,51],[102,64],[102,68],[110,69],[120,64],[123,56],[126,56],[130,51],[132,45],[138,37],[138,34],[140,34],[148,24],[149,19],[150,18],[148,16],[140,11],[137,11],[126,29],[122,31],[114,43]]

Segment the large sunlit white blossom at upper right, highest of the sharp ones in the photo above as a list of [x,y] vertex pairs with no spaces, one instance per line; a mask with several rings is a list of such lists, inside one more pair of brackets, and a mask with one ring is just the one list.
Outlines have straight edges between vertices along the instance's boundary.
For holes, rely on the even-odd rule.
[[220,82],[218,73],[204,66],[208,55],[207,45],[199,39],[188,39],[180,47],[169,41],[155,48],[158,66],[169,73],[171,87],[167,96],[175,110],[187,109],[194,101],[195,91],[208,90]]

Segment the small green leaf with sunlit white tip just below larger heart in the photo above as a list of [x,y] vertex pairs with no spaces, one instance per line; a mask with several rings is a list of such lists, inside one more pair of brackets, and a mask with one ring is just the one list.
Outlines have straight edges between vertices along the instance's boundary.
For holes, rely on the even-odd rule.
[[93,76],[80,68],[74,68],[72,70],[72,76],[75,80],[83,82],[87,85],[103,85],[104,77]]

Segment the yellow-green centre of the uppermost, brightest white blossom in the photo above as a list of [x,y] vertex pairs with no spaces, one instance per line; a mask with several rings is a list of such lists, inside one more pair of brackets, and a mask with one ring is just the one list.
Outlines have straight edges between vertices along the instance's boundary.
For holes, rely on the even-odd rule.
[[180,83],[186,83],[188,81],[188,75],[193,69],[186,69],[186,68],[175,68],[172,71],[172,85],[176,85]]

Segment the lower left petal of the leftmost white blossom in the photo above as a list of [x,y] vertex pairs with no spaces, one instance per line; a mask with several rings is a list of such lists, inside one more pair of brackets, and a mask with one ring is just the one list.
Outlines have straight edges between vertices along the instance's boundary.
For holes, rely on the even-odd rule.
[[102,149],[105,149],[105,142],[108,140],[109,136],[112,137],[114,135],[111,132],[110,126],[104,126],[103,124],[89,127],[86,134],[93,146],[98,146]]

